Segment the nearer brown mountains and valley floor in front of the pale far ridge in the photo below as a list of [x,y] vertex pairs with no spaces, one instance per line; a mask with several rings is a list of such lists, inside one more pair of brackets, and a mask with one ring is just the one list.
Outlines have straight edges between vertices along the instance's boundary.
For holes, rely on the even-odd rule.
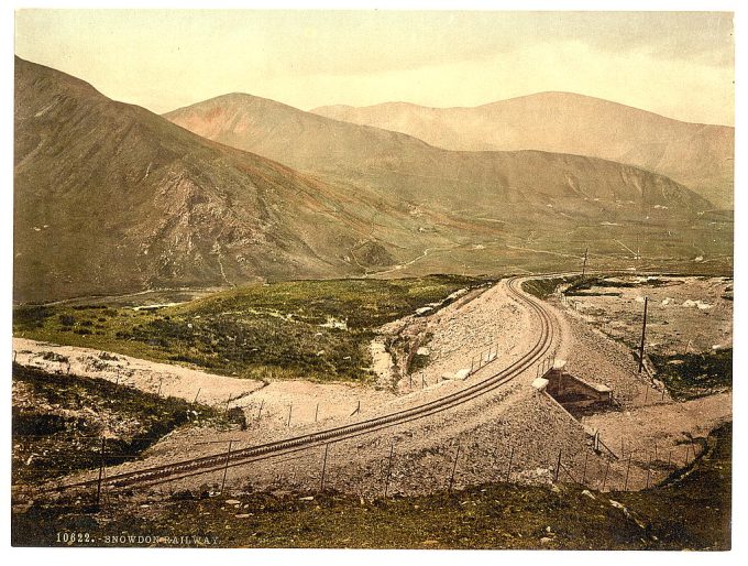
[[450,151],[241,94],[161,117],[18,57],[14,120],[20,303],[732,253],[705,198],[596,157]]

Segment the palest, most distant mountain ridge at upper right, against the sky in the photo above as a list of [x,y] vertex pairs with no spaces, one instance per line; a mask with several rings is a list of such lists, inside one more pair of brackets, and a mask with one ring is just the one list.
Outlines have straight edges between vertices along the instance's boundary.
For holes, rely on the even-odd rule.
[[541,150],[627,163],[682,183],[716,206],[733,206],[735,129],[681,122],[607,100],[541,92],[475,108],[386,102],[311,112],[465,151]]

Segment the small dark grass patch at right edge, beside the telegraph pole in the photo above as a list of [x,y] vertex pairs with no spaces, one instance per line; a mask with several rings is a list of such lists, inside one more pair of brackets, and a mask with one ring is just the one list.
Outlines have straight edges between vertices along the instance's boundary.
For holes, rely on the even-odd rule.
[[674,399],[695,399],[733,387],[733,348],[700,353],[650,353],[658,378]]

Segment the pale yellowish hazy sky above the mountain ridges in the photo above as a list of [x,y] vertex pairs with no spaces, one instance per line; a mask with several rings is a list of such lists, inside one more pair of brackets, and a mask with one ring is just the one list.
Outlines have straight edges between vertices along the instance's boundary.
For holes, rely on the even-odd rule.
[[543,90],[734,123],[732,15],[22,10],[19,56],[165,112],[242,91],[311,109]]

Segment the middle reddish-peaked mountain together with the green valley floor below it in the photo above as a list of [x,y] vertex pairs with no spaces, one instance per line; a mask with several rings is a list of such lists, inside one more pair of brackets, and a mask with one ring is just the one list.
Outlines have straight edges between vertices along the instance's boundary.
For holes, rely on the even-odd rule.
[[389,239],[402,259],[385,274],[568,269],[587,246],[608,265],[644,255],[659,265],[732,261],[729,215],[706,213],[713,205],[692,191],[630,165],[540,151],[449,151],[242,94],[165,116],[311,172],[352,199],[371,196],[381,235],[392,220],[383,207],[405,215],[411,232]]

